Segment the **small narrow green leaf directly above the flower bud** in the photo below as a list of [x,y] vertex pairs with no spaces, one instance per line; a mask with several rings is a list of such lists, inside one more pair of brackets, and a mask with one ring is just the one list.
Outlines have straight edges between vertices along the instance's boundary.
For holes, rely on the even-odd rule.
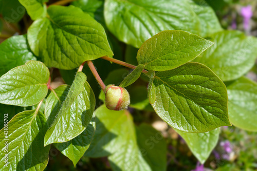
[[127,77],[120,83],[119,87],[127,87],[133,84],[140,77],[142,71],[144,69],[144,65],[138,65]]

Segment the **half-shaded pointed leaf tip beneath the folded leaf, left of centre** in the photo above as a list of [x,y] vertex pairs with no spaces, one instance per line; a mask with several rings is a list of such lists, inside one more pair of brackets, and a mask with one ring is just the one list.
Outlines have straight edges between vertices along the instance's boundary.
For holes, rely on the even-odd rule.
[[73,162],[75,167],[93,140],[96,130],[95,119],[95,117],[92,118],[86,129],[78,137],[68,142],[54,144],[64,156],[67,156]]

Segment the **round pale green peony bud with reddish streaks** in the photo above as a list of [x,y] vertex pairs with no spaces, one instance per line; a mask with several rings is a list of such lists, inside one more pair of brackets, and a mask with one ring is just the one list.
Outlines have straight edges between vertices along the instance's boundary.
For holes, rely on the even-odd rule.
[[107,85],[105,90],[105,105],[110,110],[124,110],[130,104],[130,94],[122,87]]

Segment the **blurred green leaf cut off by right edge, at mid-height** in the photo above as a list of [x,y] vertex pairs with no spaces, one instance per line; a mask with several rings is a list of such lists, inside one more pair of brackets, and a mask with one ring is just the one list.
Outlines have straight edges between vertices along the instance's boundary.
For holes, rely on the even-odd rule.
[[231,123],[241,129],[257,131],[257,83],[246,77],[227,86]]

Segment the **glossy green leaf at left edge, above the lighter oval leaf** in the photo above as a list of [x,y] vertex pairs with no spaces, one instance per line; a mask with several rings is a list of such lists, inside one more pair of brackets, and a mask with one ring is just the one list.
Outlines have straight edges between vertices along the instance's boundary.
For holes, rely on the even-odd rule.
[[26,35],[12,36],[0,44],[0,76],[30,60],[36,57],[28,47]]

